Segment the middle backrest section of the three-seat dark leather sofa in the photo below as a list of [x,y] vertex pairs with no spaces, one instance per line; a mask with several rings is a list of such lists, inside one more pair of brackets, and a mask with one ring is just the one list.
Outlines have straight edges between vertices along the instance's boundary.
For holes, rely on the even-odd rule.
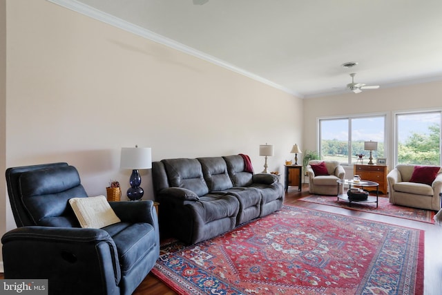
[[202,173],[209,191],[224,191],[233,187],[227,172],[226,161],[222,157],[198,158],[197,160],[201,163]]

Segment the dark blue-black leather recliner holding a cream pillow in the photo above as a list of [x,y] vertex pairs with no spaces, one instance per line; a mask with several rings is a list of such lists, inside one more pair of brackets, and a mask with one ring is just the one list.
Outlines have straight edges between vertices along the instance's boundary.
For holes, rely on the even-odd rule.
[[152,201],[110,202],[122,222],[79,227],[70,198],[86,198],[66,163],[15,167],[6,182],[17,229],[3,243],[5,278],[47,278],[50,294],[132,294],[160,254]]

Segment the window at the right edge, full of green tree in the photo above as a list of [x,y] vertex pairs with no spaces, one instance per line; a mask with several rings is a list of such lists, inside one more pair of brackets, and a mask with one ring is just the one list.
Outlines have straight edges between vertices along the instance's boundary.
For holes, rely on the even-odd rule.
[[441,111],[396,114],[396,163],[441,165]]

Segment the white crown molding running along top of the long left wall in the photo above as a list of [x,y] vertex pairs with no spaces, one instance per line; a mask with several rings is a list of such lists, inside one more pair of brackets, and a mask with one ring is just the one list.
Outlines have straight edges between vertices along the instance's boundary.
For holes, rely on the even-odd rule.
[[292,89],[289,89],[287,87],[284,87],[284,86],[281,86],[281,85],[276,84],[274,82],[271,82],[263,77],[255,75],[247,70],[244,70],[242,68],[238,68],[237,66],[234,66],[233,64],[229,64],[225,61],[222,61],[221,59],[218,59],[218,58],[213,57],[211,55],[207,55],[206,53],[202,53],[199,50],[195,50],[195,48],[191,48],[191,47],[181,44],[177,41],[173,41],[172,39],[169,39],[169,38],[166,38],[162,35],[159,35],[155,32],[152,32],[150,30],[146,30],[145,28],[142,28],[140,26],[136,26],[133,23],[129,23],[128,21],[124,21],[123,19],[119,19],[117,17],[114,17],[113,15],[109,15],[106,12],[103,12],[101,10],[97,10],[96,8],[88,6],[88,5],[81,3],[77,0],[46,0],[46,1],[49,1],[51,3],[55,3],[59,6],[62,6],[64,8],[68,8],[69,10],[73,10],[75,12],[79,12],[82,15],[86,15],[87,17],[97,19],[98,21],[108,23],[111,26],[115,26],[115,27],[120,28],[122,30],[126,30],[127,32],[131,32],[131,33],[138,35],[140,37],[144,37],[144,38],[149,39],[151,41],[155,41],[155,42],[162,44],[164,46],[168,46],[168,47],[173,48],[175,50],[179,50],[182,53],[186,53],[186,54],[192,55],[193,57],[198,57],[199,59],[209,61],[211,64],[215,64],[217,66],[222,66],[223,68],[227,68],[228,70],[231,70],[235,73],[238,73],[240,75],[244,75],[246,77],[254,79],[254,80],[261,82],[263,84],[267,84],[273,88],[279,89],[280,91],[284,91],[285,93],[289,93],[289,94],[294,95],[296,97],[303,98],[303,95],[301,95],[300,93],[296,93],[296,91],[293,91]]

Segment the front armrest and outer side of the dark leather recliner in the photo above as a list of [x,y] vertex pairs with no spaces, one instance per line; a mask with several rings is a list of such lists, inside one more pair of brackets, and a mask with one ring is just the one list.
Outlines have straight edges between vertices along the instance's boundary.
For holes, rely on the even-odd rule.
[[103,229],[19,227],[1,242],[5,278],[47,278],[56,294],[66,287],[77,294],[119,291],[117,247]]

